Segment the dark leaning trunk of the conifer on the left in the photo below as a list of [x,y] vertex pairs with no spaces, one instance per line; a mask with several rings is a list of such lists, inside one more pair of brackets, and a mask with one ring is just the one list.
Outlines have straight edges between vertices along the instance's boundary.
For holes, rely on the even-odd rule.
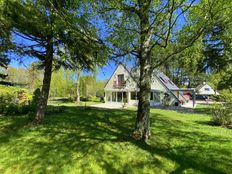
[[53,44],[52,41],[48,41],[47,45],[47,53],[46,59],[44,61],[45,69],[44,69],[44,78],[43,78],[43,86],[39,97],[39,102],[36,108],[36,116],[35,123],[41,123],[44,118],[45,110],[47,107],[50,84],[51,84],[51,76],[52,76],[52,62],[53,62]]

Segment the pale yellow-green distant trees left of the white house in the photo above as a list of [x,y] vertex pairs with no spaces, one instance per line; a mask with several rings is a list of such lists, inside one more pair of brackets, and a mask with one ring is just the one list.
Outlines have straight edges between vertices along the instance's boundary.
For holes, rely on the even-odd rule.
[[[26,68],[8,67],[2,71],[8,76],[4,81],[28,89],[31,93],[42,85],[43,73],[36,68],[36,64],[31,64]],[[96,76],[80,76],[80,98],[81,100],[91,100],[103,97],[105,81],[96,80]],[[75,71],[69,69],[59,69],[53,72],[51,79],[50,98],[66,97],[76,100],[77,75]],[[96,98],[95,98],[96,99]]]

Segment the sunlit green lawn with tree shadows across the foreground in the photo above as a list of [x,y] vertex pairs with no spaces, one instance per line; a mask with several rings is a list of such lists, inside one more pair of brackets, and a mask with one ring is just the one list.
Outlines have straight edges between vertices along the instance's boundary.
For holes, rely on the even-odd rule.
[[68,105],[40,126],[0,117],[0,173],[231,173],[232,130],[206,110],[152,109],[147,144],[130,137],[133,109]]

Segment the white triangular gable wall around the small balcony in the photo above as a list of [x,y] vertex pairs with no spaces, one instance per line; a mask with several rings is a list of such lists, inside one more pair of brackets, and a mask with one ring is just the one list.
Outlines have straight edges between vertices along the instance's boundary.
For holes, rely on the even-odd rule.
[[[118,82],[118,78],[120,75],[124,75],[124,81],[125,81],[125,86],[123,88],[116,88],[115,83]],[[131,77],[131,74],[129,71],[126,69],[126,67],[122,64],[119,64],[114,73],[112,74],[111,78],[108,80],[105,90],[136,90],[137,85],[133,78]]]

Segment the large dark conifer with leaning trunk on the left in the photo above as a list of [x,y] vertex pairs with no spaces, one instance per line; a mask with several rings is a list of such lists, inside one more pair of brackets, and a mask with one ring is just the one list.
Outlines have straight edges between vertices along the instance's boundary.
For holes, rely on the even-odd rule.
[[[35,123],[40,123],[47,106],[52,69],[61,65],[75,69],[89,69],[103,52],[96,30],[88,22],[87,1],[63,0],[8,0],[7,20],[11,21],[12,33],[24,41],[16,43],[15,52],[22,56],[35,57],[44,68],[44,77],[36,109]],[[33,15],[32,15],[33,14]],[[102,53],[103,56],[103,53]],[[75,62],[75,63],[74,63]]]

